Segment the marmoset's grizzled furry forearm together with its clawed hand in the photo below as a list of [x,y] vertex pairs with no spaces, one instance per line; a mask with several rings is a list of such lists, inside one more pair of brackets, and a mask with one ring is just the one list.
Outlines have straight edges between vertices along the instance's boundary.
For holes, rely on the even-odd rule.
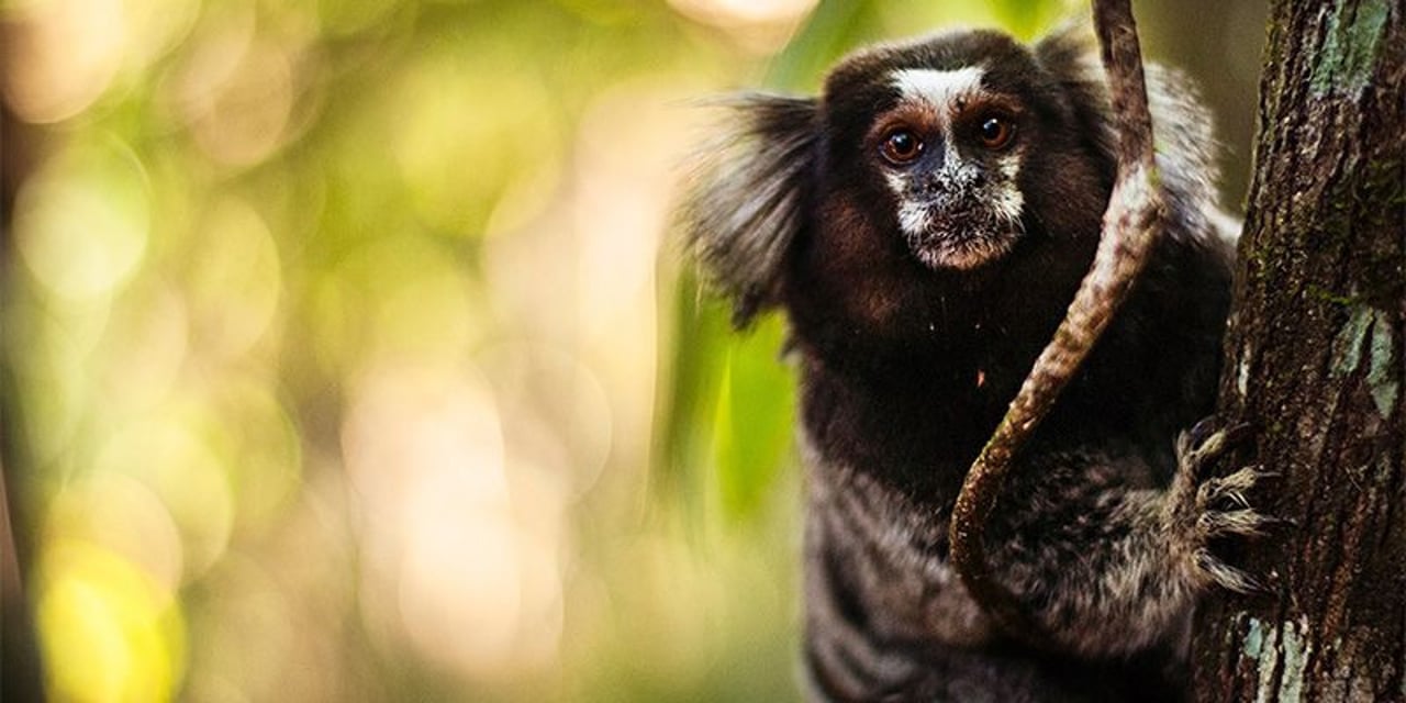
[[1102,658],[1173,643],[1208,586],[1257,588],[1211,543],[1272,522],[1246,499],[1264,474],[1205,477],[1243,433],[1211,427],[1178,439],[1167,488],[1136,454],[1102,447],[1035,451],[1021,467],[993,523],[993,569],[1054,647]]

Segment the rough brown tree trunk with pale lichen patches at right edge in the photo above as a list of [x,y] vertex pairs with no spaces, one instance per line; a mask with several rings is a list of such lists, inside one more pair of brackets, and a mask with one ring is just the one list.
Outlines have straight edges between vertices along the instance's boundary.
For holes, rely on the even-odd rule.
[[[1275,3],[1220,413],[1291,520],[1197,621],[1197,700],[1406,700],[1403,0]],[[1232,546],[1233,547],[1233,546]]]

